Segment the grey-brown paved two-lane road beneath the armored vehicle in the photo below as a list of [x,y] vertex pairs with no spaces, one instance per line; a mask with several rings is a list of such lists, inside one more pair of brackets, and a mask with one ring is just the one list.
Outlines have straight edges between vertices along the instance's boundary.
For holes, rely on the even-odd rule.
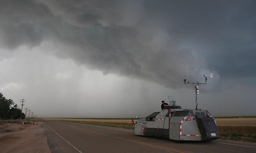
[[185,142],[137,136],[131,130],[79,123],[44,121],[52,152],[256,152],[256,143],[214,140]]

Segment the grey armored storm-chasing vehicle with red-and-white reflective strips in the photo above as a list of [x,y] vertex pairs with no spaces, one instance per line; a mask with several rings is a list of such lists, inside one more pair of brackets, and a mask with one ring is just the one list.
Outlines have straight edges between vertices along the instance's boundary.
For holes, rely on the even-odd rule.
[[161,112],[138,119],[134,134],[177,141],[212,141],[221,137],[208,110],[182,109],[178,105],[166,105]]

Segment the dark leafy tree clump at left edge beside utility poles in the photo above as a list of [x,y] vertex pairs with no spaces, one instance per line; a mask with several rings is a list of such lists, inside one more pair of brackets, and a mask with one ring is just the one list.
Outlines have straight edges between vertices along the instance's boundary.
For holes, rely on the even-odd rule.
[[0,93],[0,119],[25,119],[25,114],[18,108],[12,99],[6,99]]

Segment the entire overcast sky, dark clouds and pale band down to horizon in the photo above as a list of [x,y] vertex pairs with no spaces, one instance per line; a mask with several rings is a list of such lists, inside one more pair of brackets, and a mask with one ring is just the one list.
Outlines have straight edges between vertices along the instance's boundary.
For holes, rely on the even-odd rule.
[[0,1],[0,92],[38,117],[256,115],[255,1]]

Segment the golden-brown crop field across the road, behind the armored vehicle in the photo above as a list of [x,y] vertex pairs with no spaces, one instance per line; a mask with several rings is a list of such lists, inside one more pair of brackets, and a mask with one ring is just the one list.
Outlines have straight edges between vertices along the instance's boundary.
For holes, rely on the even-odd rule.
[[[132,129],[131,119],[43,119]],[[136,120],[134,120],[134,122],[136,122]],[[222,139],[256,142],[256,118],[217,118],[216,122]]]

